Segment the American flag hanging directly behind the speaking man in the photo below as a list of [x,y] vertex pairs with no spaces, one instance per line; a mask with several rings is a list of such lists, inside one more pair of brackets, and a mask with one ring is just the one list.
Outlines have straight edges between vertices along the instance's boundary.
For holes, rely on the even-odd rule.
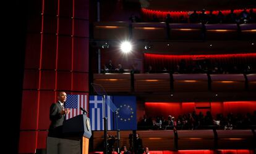
[[66,120],[77,115],[83,114],[80,107],[87,111],[87,95],[67,95],[67,100],[65,103],[65,108],[70,109],[70,113],[66,115]]

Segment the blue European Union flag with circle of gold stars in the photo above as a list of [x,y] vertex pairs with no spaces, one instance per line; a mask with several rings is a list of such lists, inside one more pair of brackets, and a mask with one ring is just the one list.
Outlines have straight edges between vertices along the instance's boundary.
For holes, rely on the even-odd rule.
[[[117,129],[137,130],[136,97],[113,96],[113,102],[117,107]],[[114,129],[116,129],[116,117]]]

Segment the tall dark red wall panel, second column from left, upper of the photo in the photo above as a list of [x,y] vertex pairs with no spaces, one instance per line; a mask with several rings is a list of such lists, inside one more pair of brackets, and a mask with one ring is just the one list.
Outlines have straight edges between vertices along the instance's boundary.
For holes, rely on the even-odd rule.
[[52,70],[56,68],[56,34],[43,35],[43,53],[41,59],[41,68]]

